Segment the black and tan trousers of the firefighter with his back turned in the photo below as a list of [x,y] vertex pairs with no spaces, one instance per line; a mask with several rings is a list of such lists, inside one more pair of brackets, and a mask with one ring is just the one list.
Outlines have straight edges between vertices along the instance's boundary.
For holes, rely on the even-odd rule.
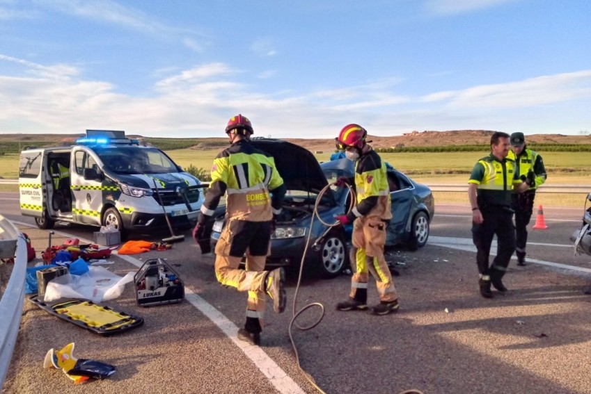
[[[271,222],[228,220],[216,244],[216,278],[220,284],[248,291],[244,328],[260,333],[265,325],[265,261],[269,254]],[[246,270],[239,264],[246,254]]]

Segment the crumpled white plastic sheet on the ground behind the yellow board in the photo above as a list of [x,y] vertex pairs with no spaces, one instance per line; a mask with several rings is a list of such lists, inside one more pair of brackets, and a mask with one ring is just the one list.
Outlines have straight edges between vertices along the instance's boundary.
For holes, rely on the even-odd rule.
[[134,272],[119,277],[102,267],[90,265],[82,275],[65,274],[47,283],[45,302],[60,298],[84,298],[93,302],[117,298],[123,293],[125,284],[134,279]]

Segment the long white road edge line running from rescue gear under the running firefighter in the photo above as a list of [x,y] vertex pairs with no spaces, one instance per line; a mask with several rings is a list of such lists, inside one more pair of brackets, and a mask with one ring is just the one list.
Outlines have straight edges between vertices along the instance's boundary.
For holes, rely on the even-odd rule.
[[[31,227],[31,224],[23,222],[13,221],[13,223],[20,226]],[[55,233],[68,238],[74,237],[72,234],[64,233],[63,231],[55,231]],[[93,241],[84,238],[78,239],[81,243],[94,243]],[[143,265],[143,261],[139,261],[138,259],[128,256],[127,254],[118,254],[116,250],[113,250],[112,253],[117,254],[119,258],[122,258],[128,263],[135,265],[137,268],[140,268]],[[184,297],[191,303],[191,305],[195,306],[198,311],[206,315],[207,318],[209,318],[214,323],[214,325],[221,329],[221,331],[226,334],[226,336],[228,336],[228,338],[230,338],[249,359],[251,359],[255,366],[263,375],[265,375],[265,377],[267,377],[267,379],[269,379],[269,382],[277,389],[279,393],[306,393],[291,377],[287,376],[287,373],[281,369],[281,367],[278,366],[277,363],[273,361],[273,359],[271,359],[271,357],[269,357],[261,347],[249,345],[249,343],[239,340],[237,337],[238,327],[236,327],[236,325],[231,320],[226,318],[226,316],[224,316],[220,311],[205,301],[205,299],[201,298],[193,290],[187,287],[184,288]]]

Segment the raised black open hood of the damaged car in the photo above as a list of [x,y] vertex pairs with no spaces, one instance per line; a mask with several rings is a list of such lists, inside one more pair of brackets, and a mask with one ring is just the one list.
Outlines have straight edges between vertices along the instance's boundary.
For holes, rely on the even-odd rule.
[[287,190],[317,193],[328,184],[320,164],[308,149],[271,138],[253,138],[251,144],[273,156]]

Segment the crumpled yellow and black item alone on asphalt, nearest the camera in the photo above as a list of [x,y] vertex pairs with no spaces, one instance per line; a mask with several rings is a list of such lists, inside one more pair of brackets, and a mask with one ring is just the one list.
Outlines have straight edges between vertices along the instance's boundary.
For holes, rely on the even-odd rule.
[[90,378],[105,379],[116,371],[116,368],[111,364],[74,357],[73,342],[65,345],[62,350],[49,349],[45,354],[43,368],[51,366],[58,370],[61,369],[75,384],[82,383]]

